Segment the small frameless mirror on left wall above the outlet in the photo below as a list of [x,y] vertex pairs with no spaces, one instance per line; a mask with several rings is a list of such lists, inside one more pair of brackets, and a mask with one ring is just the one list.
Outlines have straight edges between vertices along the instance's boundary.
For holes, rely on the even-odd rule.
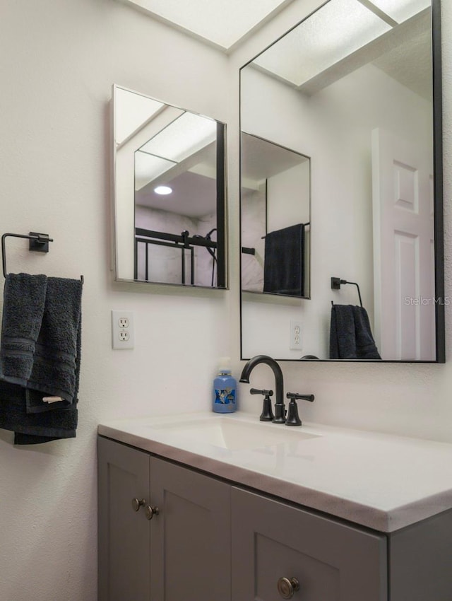
[[114,85],[115,279],[227,288],[225,124]]

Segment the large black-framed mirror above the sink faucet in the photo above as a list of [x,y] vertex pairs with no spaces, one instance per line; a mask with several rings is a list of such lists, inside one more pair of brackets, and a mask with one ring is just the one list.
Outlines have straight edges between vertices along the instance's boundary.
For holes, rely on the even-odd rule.
[[319,0],[242,67],[242,358],[445,361],[439,11]]

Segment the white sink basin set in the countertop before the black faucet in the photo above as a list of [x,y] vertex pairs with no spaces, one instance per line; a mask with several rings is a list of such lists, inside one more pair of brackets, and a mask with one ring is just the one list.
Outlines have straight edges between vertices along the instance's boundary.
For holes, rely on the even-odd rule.
[[304,432],[297,426],[259,421],[253,424],[235,421],[226,416],[153,424],[151,427],[165,431],[165,434],[171,434],[177,439],[190,439],[230,450],[264,448],[318,436]]

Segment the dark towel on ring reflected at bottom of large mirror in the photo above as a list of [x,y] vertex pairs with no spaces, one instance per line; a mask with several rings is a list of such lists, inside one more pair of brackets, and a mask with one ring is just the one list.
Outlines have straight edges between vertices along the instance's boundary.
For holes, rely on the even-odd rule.
[[331,307],[330,358],[381,359],[364,307]]

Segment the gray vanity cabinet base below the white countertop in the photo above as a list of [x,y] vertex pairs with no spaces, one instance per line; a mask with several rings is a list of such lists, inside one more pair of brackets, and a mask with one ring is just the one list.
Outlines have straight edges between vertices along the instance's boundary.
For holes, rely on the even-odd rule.
[[98,457],[100,601],[452,600],[452,510],[379,533],[102,436]]

